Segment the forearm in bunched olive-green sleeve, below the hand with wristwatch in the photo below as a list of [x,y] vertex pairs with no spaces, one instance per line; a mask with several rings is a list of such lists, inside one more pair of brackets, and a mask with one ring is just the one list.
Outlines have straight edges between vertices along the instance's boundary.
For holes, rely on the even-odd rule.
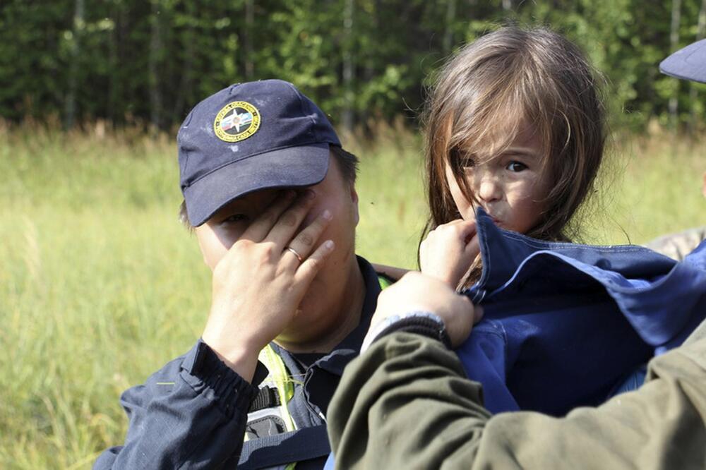
[[347,366],[328,407],[336,468],[463,464],[490,416],[480,403],[480,385],[441,342],[409,333],[378,339]]

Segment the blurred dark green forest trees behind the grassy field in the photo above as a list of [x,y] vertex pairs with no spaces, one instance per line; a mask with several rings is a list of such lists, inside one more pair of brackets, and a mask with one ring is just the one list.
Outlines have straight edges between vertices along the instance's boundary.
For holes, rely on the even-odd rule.
[[[691,88],[702,85],[658,70],[673,52],[671,1],[4,0],[0,117],[168,129],[230,83],[284,78],[334,123],[346,113],[367,129],[413,123],[454,47],[517,23],[549,25],[585,49],[607,78],[614,124],[693,129],[705,110]],[[682,3],[680,47],[697,37],[701,4]]]

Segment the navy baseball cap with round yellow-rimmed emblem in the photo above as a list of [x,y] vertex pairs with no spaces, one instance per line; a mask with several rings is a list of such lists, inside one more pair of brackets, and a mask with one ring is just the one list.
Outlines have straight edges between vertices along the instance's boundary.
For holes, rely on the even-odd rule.
[[341,146],[316,104],[282,80],[231,85],[196,105],[177,135],[181,193],[193,227],[261,189],[311,186]]

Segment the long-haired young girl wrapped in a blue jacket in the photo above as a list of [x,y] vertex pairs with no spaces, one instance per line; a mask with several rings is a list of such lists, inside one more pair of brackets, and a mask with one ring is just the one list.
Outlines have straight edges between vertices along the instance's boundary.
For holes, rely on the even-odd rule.
[[703,320],[689,267],[636,246],[565,243],[606,139],[592,69],[568,40],[518,28],[481,37],[443,67],[425,119],[419,264],[483,308],[455,352],[491,411],[602,403]]

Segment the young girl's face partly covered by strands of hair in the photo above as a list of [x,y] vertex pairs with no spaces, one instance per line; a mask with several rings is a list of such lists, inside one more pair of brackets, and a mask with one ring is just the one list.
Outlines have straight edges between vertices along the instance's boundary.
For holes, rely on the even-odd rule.
[[[498,227],[527,233],[542,218],[550,182],[542,177],[542,143],[531,126],[521,132],[503,153],[481,162],[474,155],[462,155],[462,166],[469,188],[478,204],[493,217]],[[446,164],[446,179],[451,196],[467,220],[475,218],[476,204],[469,201],[458,186],[453,171]]]

